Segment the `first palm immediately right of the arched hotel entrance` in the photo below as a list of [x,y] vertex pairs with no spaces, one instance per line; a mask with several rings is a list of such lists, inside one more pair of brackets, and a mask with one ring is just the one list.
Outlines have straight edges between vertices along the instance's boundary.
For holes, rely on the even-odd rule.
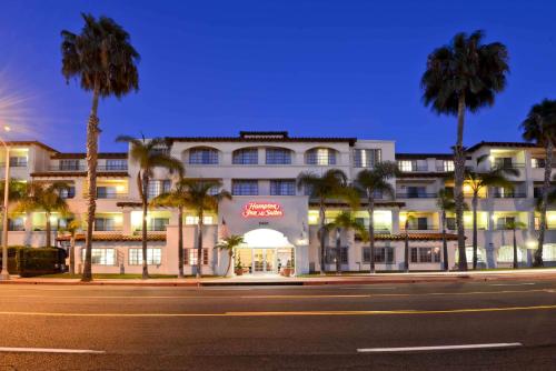
[[329,169],[321,176],[314,172],[301,172],[297,177],[297,188],[304,188],[310,192],[310,198],[318,200],[319,205],[319,239],[320,239],[320,274],[325,274],[325,218],[326,201],[329,199],[344,198],[346,194],[347,177],[344,171]]

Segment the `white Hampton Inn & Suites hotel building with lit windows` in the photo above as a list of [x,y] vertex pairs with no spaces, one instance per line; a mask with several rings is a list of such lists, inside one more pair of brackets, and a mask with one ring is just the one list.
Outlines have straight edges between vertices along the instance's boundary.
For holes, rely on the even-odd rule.
[[[168,151],[180,159],[186,177],[221,180],[232,200],[220,203],[218,212],[207,213],[202,231],[190,210],[183,215],[186,274],[197,264],[196,235],[203,234],[202,273],[224,274],[228,268],[226,252],[215,249],[224,230],[241,234],[245,243],[238,249],[246,273],[278,273],[291,268],[296,274],[318,271],[319,224],[318,204],[309,192],[298,189],[301,172],[320,174],[340,169],[353,181],[358,171],[373,168],[379,161],[397,161],[401,176],[393,179],[395,197],[377,194],[375,213],[377,270],[401,270],[406,234],[409,240],[410,270],[440,270],[443,261],[438,191],[450,188],[447,173],[454,169],[450,153],[396,153],[394,141],[356,138],[298,138],[287,132],[240,132],[238,137],[170,137]],[[10,146],[11,177],[22,181],[64,181],[63,192],[72,218],[85,221],[87,210],[87,168],[85,153],[61,153],[41,142],[13,141]],[[6,163],[3,153],[0,161]],[[477,161],[486,156],[487,161]],[[523,223],[517,233],[518,259],[529,265],[536,248],[538,215],[534,211],[544,173],[544,150],[529,143],[480,142],[467,150],[467,166],[478,171],[494,166],[515,168],[513,189],[485,189],[478,202],[478,257],[486,268],[512,267],[513,231],[508,221]],[[139,273],[141,271],[141,210],[135,178],[139,169],[127,152],[99,153],[97,179],[97,214],[93,225],[93,272]],[[3,174],[3,171],[0,171]],[[172,186],[173,178],[157,169],[149,184],[149,198]],[[215,190],[215,192],[218,190]],[[470,204],[468,188],[464,188]],[[12,205],[13,207],[13,205]],[[330,201],[326,219],[332,220],[347,205]],[[355,217],[368,225],[363,207]],[[405,221],[410,217],[407,231]],[[46,218],[42,212],[9,214],[10,245],[41,247],[44,244]],[[148,215],[149,272],[175,274],[178,270],[177,212],[158,208]],[[61,215],[51,217],[52,239],[68,245],[68,237],[59,233],[68,222]],[[464,215],[471,258],[471,215]],[[544,259],[556,262],[556,209],[547,214],[548,231]],[[455,219],[448,214],[448,262],[456,264]],[[327,270],[336,270],[337,259],[342,271],[369,270],[370,249],[354,231],[326,235]],[[85,239],[77,239],[76,267],[82,268]]]

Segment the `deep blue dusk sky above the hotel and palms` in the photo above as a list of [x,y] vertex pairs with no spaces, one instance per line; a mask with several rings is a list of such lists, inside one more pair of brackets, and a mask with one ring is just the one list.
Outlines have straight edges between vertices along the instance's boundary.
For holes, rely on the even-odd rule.
[[141,54],[140,91],[100,104],[101,151],[123,150],[118,134],[288,130],[446,152],[456,119],[424,107],[419,81],[435,48],[476,29],[507,46],[510,74],[467,117],[467,146],[520,140],[530,106],[556,98],[556,1],[4,0],[0,120],[27,131],[11,139],[85,151],[91,97],[60,73],[60,31],[79,32],[80,12],[113,18]]

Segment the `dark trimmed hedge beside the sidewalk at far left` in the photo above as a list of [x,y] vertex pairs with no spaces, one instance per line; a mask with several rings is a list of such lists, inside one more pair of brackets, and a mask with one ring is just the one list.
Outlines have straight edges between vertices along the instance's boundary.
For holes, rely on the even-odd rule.
[[[2,262],[0,253],[0,264]],[[57,248],[8,248],[8,271],[21,277],[58,273],[64,264],[66,253]],[[0,265],[1,267],[1,265]]]

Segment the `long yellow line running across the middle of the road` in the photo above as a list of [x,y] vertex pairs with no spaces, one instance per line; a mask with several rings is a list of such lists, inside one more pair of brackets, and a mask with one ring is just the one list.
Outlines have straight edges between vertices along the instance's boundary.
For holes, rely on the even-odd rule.
[[221,313],[76,313],[76,312],[10,312],[1,311],[0,315],[18,317],[115,317],[115,318],[180,318],[180,317],[325,317],[325,315],[407,315],[407,314],[457,314],[457,313],[483,313],[483,312],[509,312],[509,311],[533,311],[533,310],[556,310],[554,305],[534,307],[503,307],[503,308],[461,308],[440,310],[360,310],[360,311],[275,311],[275,312],[221,312]]

